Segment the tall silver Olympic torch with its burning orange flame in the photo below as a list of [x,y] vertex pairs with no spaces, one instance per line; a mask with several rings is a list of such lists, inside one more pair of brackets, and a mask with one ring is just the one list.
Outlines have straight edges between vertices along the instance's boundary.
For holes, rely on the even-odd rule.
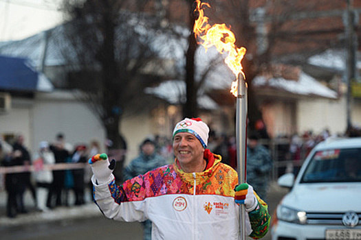
[[[245,75],[242,71],[241,60],[245,55],[244,47],[236,47],[234,43],[236,38],[232,31],[225,24],[210,25],[208,17],[204,16],[204,7],[210,8],[208,3],[201,3],[196,0],[195,20],[193,32],[197,43],[208,49],[215,47],[219,53],[225,54],[227,66],[236,76],[236,81],[232,82],[230,92],[237,97],[236,109],[236,139],[237,139],[237,165],[238,165],[238,183],[245,183],[246,180],[246,150],[247,150],[247,84]],[[245,239],[245,208],[241,205],[240,211],[240,229],[242,239]]]

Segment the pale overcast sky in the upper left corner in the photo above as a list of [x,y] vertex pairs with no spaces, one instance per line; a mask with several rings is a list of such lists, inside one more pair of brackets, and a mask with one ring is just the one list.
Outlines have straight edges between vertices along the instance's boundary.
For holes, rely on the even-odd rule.
[[63,21],[61,0],[0,0],[0,40],[18,40]]

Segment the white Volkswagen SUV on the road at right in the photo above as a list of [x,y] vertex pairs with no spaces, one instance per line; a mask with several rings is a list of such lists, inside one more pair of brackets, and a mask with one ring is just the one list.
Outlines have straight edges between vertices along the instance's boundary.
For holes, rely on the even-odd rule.
[[312,149],[278,204],[272,240],[361,239],[361,138],[327,139]]

